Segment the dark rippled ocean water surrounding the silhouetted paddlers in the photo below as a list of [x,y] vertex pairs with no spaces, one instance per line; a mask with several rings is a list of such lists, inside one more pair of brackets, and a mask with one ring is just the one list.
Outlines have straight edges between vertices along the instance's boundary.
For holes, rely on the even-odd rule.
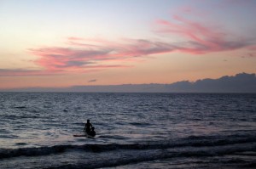
[[256,168],[255,93],[0,93],[0,119],[1,169]]

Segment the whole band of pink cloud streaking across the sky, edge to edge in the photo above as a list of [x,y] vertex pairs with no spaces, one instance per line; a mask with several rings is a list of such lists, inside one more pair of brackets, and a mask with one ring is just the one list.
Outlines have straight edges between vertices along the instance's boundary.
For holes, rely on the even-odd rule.
[[[118,42],[108,39],[67,37],[61,46],[30,48],[38,56],[34,64],[41,70],[0,70],[5,76],[44,76],[67,73],[84,73],[97,70],[131,67],[134,63],[157,54],[174,52],[207,54],[247,48],[254,57],[255,42],[224,31],[221,26],[185,18],[183,14],[202,15],[195,8],[185,7],[173,14],[170,20],[156,20],[157,40],[123,38]],[[190,16],[190,15],[189,15]],[[164,36],[164,38],[163,38]],[[176,42],[172,37],[179,37]],[[166,40],[166,37],[170,37]]]

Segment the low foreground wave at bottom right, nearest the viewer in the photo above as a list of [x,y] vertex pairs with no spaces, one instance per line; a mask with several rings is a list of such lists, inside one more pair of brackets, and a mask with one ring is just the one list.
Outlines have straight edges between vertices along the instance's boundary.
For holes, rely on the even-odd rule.
[[[145,161],[169,161],[171,158],[175,159],[187,159],[187,158],[205,158],[205,157],[223,157],[224,155],[234,155],[240,152],[247,152],[247,151],[255,151],[256,144],[241,144],[240,146],[219,146],[214,147],[201,147],[201,148],[177,148],[177,149],[140,149],[139,151],[132,151],[131,149],[128,150],[121,150],[121,151],[114,151],[113,153],[109,153],[104,155],[104,158],[101,161],[76,161],[71,162],[67,165],[63,164],[56,164],[50,167],[45,168],[55,168],[55,169],[62,169],[62,168],[102,168],[102,167],[113,167],[113,166],[124,166],[129,164],[135,164]],[[218,158],[218,163],[223,166],[227,162],[229,164],[233,164],[234,166],[240,165],[243,166],[253,166],[253,161],[237,161],[232,159],[230,161],[226,161],[225,159],[222,160]],[[214,164],[216,161],[207,161],[209,163],[213,162]],[[255,164],[255,163],[254,163]]]

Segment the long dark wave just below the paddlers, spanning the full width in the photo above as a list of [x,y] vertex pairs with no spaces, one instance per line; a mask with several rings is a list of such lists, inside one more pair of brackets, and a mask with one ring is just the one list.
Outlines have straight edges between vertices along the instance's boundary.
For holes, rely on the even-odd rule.
[[[223,138],[217,136],[190,136],[183,139],[172,139],[159,142],[148,142],[143,144],[84,144],[84,145],[54,145],[19,149],[0,149],[0,159],[17,156],[38,156],[60,154],[67,150],[84,150],[88,152],[106,152],[113,150],[147,150],[147,149],[171,149],[185,147],[212,147],[232,144],[256,144],[255,135],[229,135]],[[26,143],[22,143],[26,144]]]

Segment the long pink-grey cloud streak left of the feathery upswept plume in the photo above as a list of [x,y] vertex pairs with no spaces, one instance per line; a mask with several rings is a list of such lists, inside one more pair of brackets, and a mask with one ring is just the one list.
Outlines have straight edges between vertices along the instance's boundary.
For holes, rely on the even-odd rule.
[[90,39],[89,45],[81,45],[86,42],[84,38],[69,37],[67,40],[72,44],[69,48],[29,49],[31,54],[38,56],[35,64],[52,72],[83,72],[84,70],[129,67],[131,66],[129,64],[140,61],[141,58],[150,54],[170,53],[174,50],[174,46],[170,43],[144,39],[123,39],[119,43]]

